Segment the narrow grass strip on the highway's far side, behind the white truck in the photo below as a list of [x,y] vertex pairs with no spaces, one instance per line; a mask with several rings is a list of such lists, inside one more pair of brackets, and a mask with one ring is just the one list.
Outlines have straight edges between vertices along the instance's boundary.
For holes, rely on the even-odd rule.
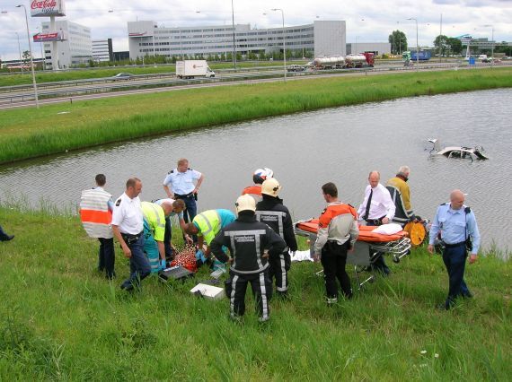
[[[300,62],[304,64],[304,62]],[[238,69],[245,69],[256,66],[276,66],[282,65],[282,61],[274,62],[244,62],[237,63]],[[296,62],[293,62],[296,64]],[[231,63],[215,63],[210,62],[208,65],[215,71],[218,69],[232,69]],[[93,78],[111,77],[118,73],[130,74],[174,74],[176,72],[175,65],[146,65],[146,66],[118,66],[118,67],[98,67],[89,69],[75,69],[69,71],[38,71],[36,72],[36,82],[48,83],[59,81],[76,81],[76,80],[90,80]],[[0,74],[0,87],[1,86],[16,86],[16,85],[31,85],[32,77],[31,72],[24,74]]]

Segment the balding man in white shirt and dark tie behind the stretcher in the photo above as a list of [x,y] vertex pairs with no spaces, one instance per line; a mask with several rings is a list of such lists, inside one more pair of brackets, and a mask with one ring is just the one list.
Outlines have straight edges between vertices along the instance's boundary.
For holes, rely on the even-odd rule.
[[[366,225],[378,226],[391,222],[395,206],[386,187],[379,183],[381,174],[374,170],[368,175],[365,198],[358,208],[358,221],[366,221]],[[371,256],[371,250],[370,250]],[[387,276],[391,271],[384,261],[384,254],[375,259],[372,267]]]

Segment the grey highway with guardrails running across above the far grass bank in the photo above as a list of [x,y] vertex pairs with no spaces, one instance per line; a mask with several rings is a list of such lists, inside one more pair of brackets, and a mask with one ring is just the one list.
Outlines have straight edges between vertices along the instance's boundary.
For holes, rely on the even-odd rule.
[[[419,71],[475,69],[490,66],[510,66],[512,62],[499,64],[479,64],[469,66],[466,63],[420,63]],[[373,68],[308,70],[305,72],[288,72],[287,80],[303,80],[319,77],[332,77],[360,74],[396,74],[415,72],[416,65],[404,66],[401,62],[375,65]],[[133,76],[128,80],[114,80],[106,77],[93,80],[46,82],[38,85],[40,105],[73,102],[75,100],[93,100],[107,97],[119,97],[128,94],[143,94],[161,91],[177,91],[188,88],[226,86],[254,82],[283,81],[283,69],[278,67],[260,67],[218,71],[215,78],[196,78],[182,80],[174,74],[144,74]],[[0,87],[0,109],[26,108],[35,104],[31,85]]]

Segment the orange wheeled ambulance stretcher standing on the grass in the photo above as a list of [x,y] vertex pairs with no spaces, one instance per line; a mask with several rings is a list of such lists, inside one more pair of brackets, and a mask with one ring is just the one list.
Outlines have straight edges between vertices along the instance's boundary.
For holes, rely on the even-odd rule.
[[[305,236],[310,242],[310,253],[313,256],[313,246],[316,241],[318,231],[318,219],[307,221],[296,221],[294,224],[296,235]],[[393,256],[394,263],[400,263],[403,256],[410,253],[410,239],[408,232],[401,230],[393,235],[384,235],[375,233],[376,227],[361,225],[359,226],[359,237],[354,246],[354,251],[347,256],[347,264],[354,265],[358,289],[361,290],[366,282],[375,281],[375,270],[371,266],[384,254]],[[371,275],[363,280],[359,280],[359,273],[366,268],[371,269]],[[322,273],[322,271],[320,272]],[[319,274],[320,274],[319,273]]]

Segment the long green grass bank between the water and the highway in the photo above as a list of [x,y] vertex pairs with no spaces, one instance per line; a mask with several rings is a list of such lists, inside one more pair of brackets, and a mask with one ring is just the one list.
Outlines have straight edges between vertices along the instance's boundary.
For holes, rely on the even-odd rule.
[[[187,89],[0,113],[0,163],[201,126],[423,94],[512,86],[512,68]],[[66,114],[62,114],[66,112]]]

